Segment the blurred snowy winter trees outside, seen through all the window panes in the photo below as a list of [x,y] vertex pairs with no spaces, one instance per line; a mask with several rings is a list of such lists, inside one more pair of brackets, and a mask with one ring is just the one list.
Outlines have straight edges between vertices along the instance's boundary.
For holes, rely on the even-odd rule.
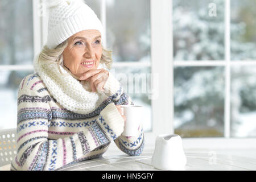
[[[86,2],[100,17],[100,0]],[[231,59],[256,60],[256,1],[230,2]],[[216,4],[217,16],[208,15],[210,3]],[[174,61],[225,60],[224,14],[224,0],[174,0],[173,22],[170,22],[174,28]],[[0,0],[0,16],[0,65],[32,64],[32,0]],[[114,62],[150,63],[149,0],[107,0],[106,25],[106,46],[113,50]],[[151,73],[151,68],[126,67],[113,71]],[[17,89],[22,78],[30,73],[0,69],[0,129],[16,127]],[[231,67],[231,137],[256,136],[255,73],[256,67],[250,65]],[[146,107],[144,127],[150,131],[148,95],[129,95],[135,104]],[[223,137],[224,102],[225,67],[175,67],[175,133],[182,137]]]

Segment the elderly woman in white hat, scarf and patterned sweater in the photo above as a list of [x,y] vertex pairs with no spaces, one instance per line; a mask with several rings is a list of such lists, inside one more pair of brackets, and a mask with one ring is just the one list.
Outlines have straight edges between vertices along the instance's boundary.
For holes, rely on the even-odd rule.
[[102,48],[103,28],[80,0],[52,1],[48,40],[34,60],[35,74],[20,82],[17,155],[11,170],[55,170],[98,158],[114,141],[128,155],[140,155],[144,132],[121,135],[133,105],[110,69],[111,52]]

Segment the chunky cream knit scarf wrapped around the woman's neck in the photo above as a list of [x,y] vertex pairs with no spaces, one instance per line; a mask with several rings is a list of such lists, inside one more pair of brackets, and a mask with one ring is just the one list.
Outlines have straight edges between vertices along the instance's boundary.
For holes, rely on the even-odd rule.
[[[49,92],[65,109],[75,113],[88,114],[97,109],[108,97],[104,93],[90,92],[88,81],[79,81],[65,67],[45,63],[35,57],[34,69],[43,80]],[[98,68],[99,69],[99,68]]]

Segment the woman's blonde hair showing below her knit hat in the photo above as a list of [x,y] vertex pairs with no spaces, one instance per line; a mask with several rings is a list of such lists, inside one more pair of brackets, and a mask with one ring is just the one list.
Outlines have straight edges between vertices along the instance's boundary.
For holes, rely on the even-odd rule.
[[[39,61],[45,61],[49,64],[57,64],[59,72],[63,74],[60,70],[60,65],[63,64],[63,51],[68,46],[68,39],[63,43],[59,44],[55,49],[49,49],[48,46],[44,46],[42,51],[39,54]],[[102,46],[102,55],[101,55],[101,64],[105,64],[108,69],[111,69],[113,60],[112,60],[112,51],[108,51]]]

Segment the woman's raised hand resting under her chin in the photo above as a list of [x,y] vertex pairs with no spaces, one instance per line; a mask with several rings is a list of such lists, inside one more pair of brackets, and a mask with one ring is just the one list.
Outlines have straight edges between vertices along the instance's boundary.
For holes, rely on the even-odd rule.
[[104,92],[104,85],[109,77],[109,71],[106,69],[90,69],[82,74],[80,80],[86,80],[90,82],[90,88],[92,92]]

